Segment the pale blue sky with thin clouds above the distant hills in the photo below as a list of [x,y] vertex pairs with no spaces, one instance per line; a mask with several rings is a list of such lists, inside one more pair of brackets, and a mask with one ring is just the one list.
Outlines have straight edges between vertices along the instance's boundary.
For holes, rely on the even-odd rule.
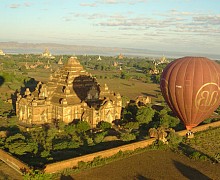
[[218,54],[220,0],[0,0],[0,41]]

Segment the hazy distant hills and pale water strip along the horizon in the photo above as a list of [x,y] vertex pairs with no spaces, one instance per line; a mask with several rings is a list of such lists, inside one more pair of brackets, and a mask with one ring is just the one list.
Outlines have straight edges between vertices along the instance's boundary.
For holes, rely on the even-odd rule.
[[18,43],[18,42],[0,42],[0,49],[8,54],[41,54],[45,49],[48,49],[53,55],[105,55],[117,56],[120,53],[125,56],[146,56],[146,57],[166,57],[179,58],[183,56],[205,56],[214,60],[220,60],[220,55],[216,54],[201,54],[187,52],[162,52],[149,49],[135,48],[119,48],[119,47],[98,47],[84,45],[65,45],[56,43]]

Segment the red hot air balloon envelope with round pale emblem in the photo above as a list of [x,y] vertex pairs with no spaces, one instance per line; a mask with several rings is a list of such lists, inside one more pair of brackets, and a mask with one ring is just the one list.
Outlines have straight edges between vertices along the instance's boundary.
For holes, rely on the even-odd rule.
[[167,65],[160,88],[172,111],[191,130],[220,105],[220,65],[204,57],[183,57]]

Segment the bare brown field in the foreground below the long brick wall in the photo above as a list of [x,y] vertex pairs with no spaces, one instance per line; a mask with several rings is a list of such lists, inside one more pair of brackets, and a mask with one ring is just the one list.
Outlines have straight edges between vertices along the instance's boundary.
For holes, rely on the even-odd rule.
[[[220,179],[220,164],[194,161],[171,151],[148,151],[72,175],[76,180]],[[72,179],[63,177],[61,179]]]

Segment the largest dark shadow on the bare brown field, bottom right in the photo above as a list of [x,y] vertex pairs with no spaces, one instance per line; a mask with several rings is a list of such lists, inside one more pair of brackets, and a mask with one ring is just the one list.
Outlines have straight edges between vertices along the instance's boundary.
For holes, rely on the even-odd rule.
[[192,168],[190,166],[187,166],[181,162],[173,160],[173,164],[175,167],[180,171],[180,173],[185,176],[187,179],[199,179],[199,180],[207,180],[211,179],[205,174],[201,173],[195,168]]

